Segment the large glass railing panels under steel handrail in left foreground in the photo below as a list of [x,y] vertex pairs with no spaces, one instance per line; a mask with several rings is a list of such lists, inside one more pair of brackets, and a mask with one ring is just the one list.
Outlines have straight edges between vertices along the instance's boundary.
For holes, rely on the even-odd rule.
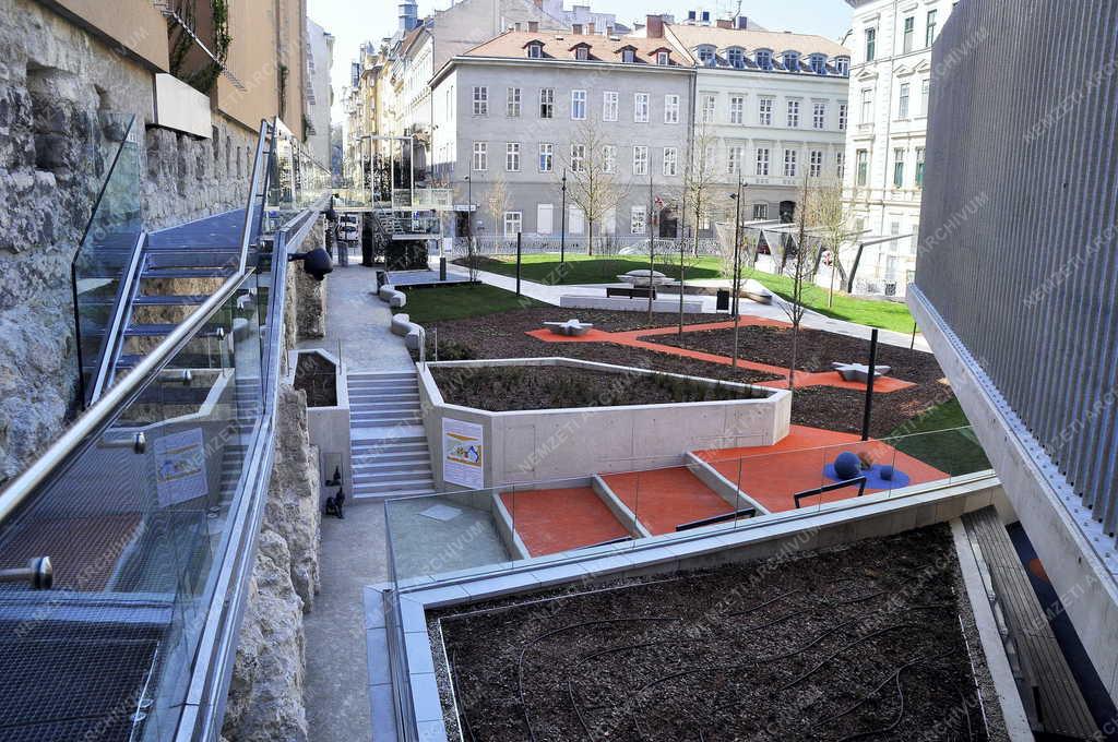
[[249,276],[207,322],[222,333],[186,343],[0,524],[0,568],[49,556],[55,577],[0,583],[0,666],[27,694],[0,702],[6,729],[83,739],[110,719],[97,739],[173,736],[260,425],[255,289]]

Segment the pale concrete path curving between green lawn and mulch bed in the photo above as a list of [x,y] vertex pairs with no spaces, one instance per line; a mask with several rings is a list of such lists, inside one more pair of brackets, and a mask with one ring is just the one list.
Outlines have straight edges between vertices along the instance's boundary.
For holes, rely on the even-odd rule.
[[[479,279],[483,280],[491,286],[498,286],[499,288],[504,288],[508,291],[515,291],[517,279],[510,276],[502,276],[495,273],[489,273],[487,270],[477,272]],[[556,285],[549,286],[547,284],[539,284],[532,280],[521,280],[520,291],[522,294],[530,298],[543,302],[546,304],[559,305],[560,296],[603,296],[605,294],[604,287],[601,285]],[[679,294],[661,294],[662,297],[679,297]],[[714,296],[703,296],[700,294],[689,295],[688,301],[697,301],[702,303],[702,311],[704,314],[714,314]],[[756,317],[764,317],[767,320],[780,320],[783,322],[788,321],[788,314],[780,308],[781,305],[786,304],[784,299],[779,296],[773,297],[773,304],[758,304],[749,299],[742,299],[740,303],[741,314],[751,315]],[[571,310],[572,312],[575,310]],[[721,313],[724,316],[724,313]],[[837,333],[841,335],[850,335],[852,337],[863,337],[869,339],[871,327],[861,325],[854,322],[846,322],[844,320],[835,320],[833,317],[825,316],[818,312],[808,311],[804,315],[804,326],[811,327],[813,330],[826,330],[827,332]],[[888,343],[890,345],[897,345],[900,348],[909,348],[912,344],[912,335],[901,332],[893,332],[891,330],[882,330],[878,333],[878,339],[882,343]],[[931,348],[925,341],[923,335],[918,334],[916,337],[917,350],[931,352]]]

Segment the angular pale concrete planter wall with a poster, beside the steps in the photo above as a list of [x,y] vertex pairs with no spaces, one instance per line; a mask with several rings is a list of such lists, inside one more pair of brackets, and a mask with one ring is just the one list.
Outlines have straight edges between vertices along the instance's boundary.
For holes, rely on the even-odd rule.
[[[443,420],[474,422],[484,436],[486,487],[523,482],[676,466],[695,449],[771,446],[788,435],[792,392],[749,384],[759,398],[674,405],[631,405],[558,410],[487,412],[449,405],[428,368],[565,365],[618,374],[654,375],[629,367],[563,358],[444,361],[419,368],[419,399],[436,489],[443,481]],[[713,380],[682,377],[716,383]]]

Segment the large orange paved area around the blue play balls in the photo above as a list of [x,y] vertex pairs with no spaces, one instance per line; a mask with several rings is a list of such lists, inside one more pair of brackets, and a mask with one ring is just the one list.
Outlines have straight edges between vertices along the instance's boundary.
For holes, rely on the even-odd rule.
[[[823,448],[826,447],[826,448]],[[793,495],[833,481],[823,467],[844,450],[869,453],[877,464],[892,464],[910,477],[909,485],[946,479],[947,474],[893,449],[879,440],[862,441],[860,436],[794,425],[787,437],[775,446],[722,448],[695,451],[722,476],[740,483],[739,487],[770,512],[795,508]],[[882,492],[866,488],[866,494]],[[846,500],[858,495],[856,487],[830,492],[804,501],[804,507]]]

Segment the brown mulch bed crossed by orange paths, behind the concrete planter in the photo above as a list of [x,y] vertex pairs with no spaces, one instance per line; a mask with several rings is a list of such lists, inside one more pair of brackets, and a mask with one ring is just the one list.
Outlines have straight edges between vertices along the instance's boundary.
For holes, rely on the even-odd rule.
[[[427,358],[429,360],[435,359],[434,337],[436,332],[434,331],[437,330],[440,360],[546,358],[561,355],[597,361],[599,363],[632,365],[667,373],[722,379],[740,383],[771,381],[779,378],[773,373],[750,371],[748,369],[732,369],[719,363],[707,363],[679,355],[669,355],[666,353],[636,348],[624,348],[609,343],[544,343],[525,334],[530,330],[542,327],[543,322],[569,320],[572,316],[577,316],[584,322],[593,322],[596,329],[607,332],[663,327],[679,322],[679,315],[660,313],[653,314],[653,320],[650,323],[648,315],[644,312],[559,310],[555,307],[517,310],[514,312],[451,320],[428,325]],[[684,315],[685,324],[702,324],[711,321],[712,317],[709,314]],[[755,330],[755,327],[741,327],[742,335],[746,334],[746,330]],[[719,333],[724,332],[727,331],[684,333],[683,336],[684,342],[690,342],[688,340],[689,334],[717,336]],[[732,333],[732,331],[729,332]],[[729,337],[732,344],[732,334]],[[869,355],[869,341],[856,337],[805,330],[804,339],[811,339],[809,342],[825,343],[825,346],[831,349],[828,352],[840,353],[834,358],[824,356],[827,363],[842,358],[847,358],[850,361],[858,361]],[[676,335],[655,335],[647,336],[644,340],[662,344],[678,342]],[[720,346],[700,348],[700,350],[714,353],[723,352],[723,349]],[[879,438],[888,436],[899,426],[912,418],[919,417],[928,409],[954,399],[955,396],[950,387],[940,383],[939,379],[944,374],[936,363],[935,356],[930,353],[913,352],[902,348],[885,346],[884,344],[879,344],[878,350],[882,358],[881,363],[893,365],[898,378],[917,382],[917,386],[889,394],[875,396],[870,435]],[[727,355],[732,354],[732,345],[730,350],[724,352]],[[755,361],[761,360],[757,355],[748,353],[742,353],[742,358]],[[786,362],[786,359],[777,358],[774,360],[777,360],[777,363],[774,363],[774,365]],[[771,362],[771,360],[764,362]],[[796,393],[793,397],[792,421],[796,425],[806,425],[841,432],[860,432],[862,429],[862,408],[864,401],[865,394],[851,389],[839,389],[835,387],[796,389]]]

